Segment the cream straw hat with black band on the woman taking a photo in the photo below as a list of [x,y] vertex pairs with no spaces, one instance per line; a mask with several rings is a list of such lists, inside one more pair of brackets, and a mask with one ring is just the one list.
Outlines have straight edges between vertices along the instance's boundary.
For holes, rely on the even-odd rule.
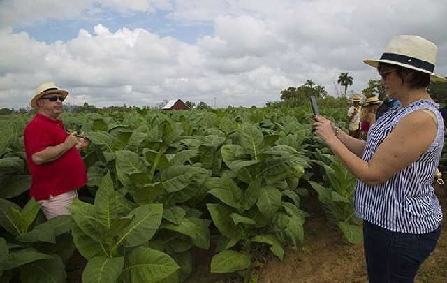
[[446,78],[434,73],[437,52],[438,48],[434,43],[420,36],[394,36],[379,60],[363,61],[374,68],[379,63],[403,66],[430,74],[430,79],[434,82],[447,82]]

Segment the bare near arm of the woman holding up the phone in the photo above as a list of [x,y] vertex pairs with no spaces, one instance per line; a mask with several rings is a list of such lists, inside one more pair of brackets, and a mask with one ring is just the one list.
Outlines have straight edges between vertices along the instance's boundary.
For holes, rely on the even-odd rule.
[[360,159],[335,137],[328,120],[316,117],[316,133],[348,170],[367,184],[380,184],[420,157],[433,142],[437,126],[427,113],[415,111],[397,123],[370,161]]

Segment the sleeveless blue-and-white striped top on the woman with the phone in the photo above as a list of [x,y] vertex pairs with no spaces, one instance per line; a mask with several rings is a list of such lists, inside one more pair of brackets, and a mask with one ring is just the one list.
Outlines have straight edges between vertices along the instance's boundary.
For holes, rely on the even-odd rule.
[[432,187],[444,145],[444,121],[438,107],[431,100],[415,101],[404,108],[395,106],[371,126],[362,157],[365,161],[372,159],[376,148],[405,115],[428,109],[438,120],[436,138],[416,161],[381,184],[357,180],[353,200],[357,217],[400,233],[430,233],[439,227],[442,211]]

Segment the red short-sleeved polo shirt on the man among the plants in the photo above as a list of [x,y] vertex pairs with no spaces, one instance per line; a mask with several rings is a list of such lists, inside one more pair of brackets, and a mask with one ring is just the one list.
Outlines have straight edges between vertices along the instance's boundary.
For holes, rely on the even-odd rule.
[[67,136],[64,122],[41,114],[36,114],[25,128],[24,145],[32,177],[29,195],[36,201],[79,189],[87,183],[84,161],[76,147],[72,147],[58,159],[41,165],[35,164],[31,159],[36,152],[64,143]]

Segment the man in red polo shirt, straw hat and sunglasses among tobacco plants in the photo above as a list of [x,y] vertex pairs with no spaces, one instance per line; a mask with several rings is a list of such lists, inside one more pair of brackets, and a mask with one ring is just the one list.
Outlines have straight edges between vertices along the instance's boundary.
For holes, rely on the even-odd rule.
[[89,140],[78,138],[76,133],[68,134],[64,122],[57,119],[67,95],[54,82],[40,85],[30,102],[37,114],[24,130],[32,177],[29,195],[41,204],[47,219],[69,214],[66,208],[78,197],[76,190],[87,183],[84,161],[78,150],[87,147]]

